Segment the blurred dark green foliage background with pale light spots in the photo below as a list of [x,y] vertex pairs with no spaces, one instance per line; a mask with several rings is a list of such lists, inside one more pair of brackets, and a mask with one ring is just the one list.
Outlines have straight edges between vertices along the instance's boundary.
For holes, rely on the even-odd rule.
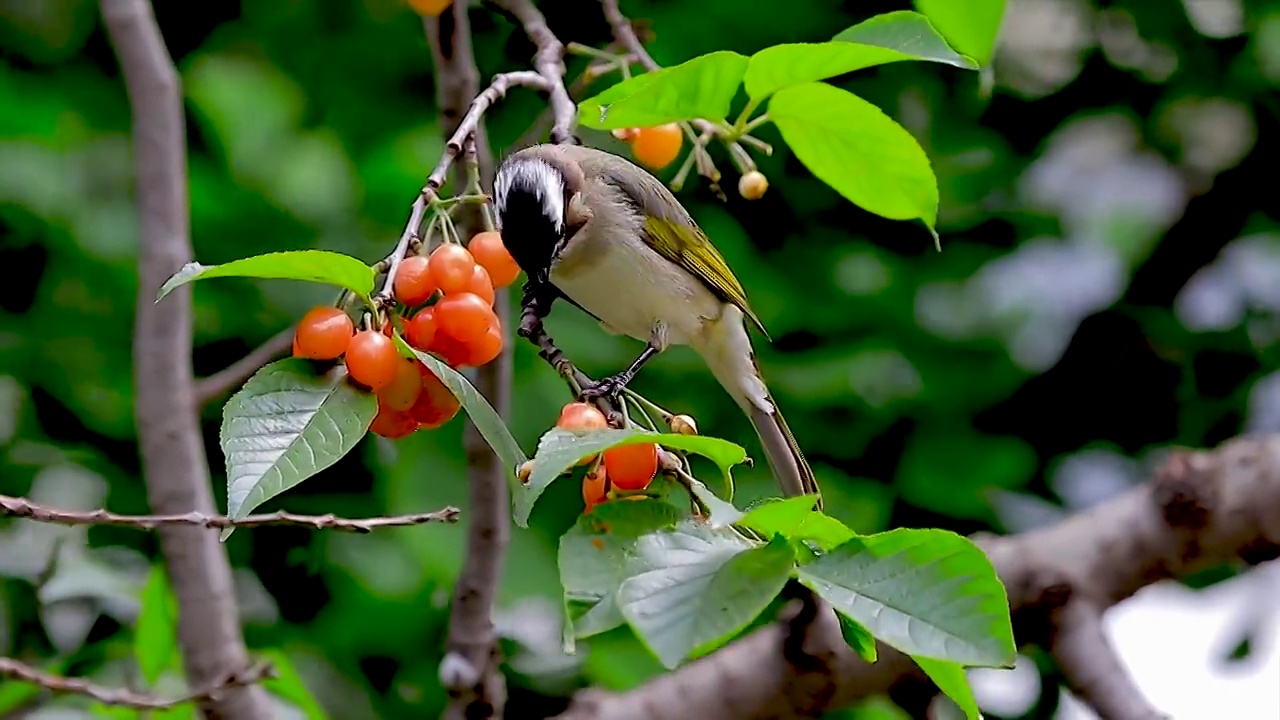
[[[430,53],[404,0],[155,5],[187,96],[196,258],[303,247],[381,258],[442,151]],[[827,40],[906,8],[622,4],[663,64]],[[541,9],[564,42],[608,41],[591,0]],[[484,81],[527,65],[532,46],[509,18],[485,5],[471,19]],[[571,59],[570,78],[584,67]],[[758,340],[762,368],[828,512],[860,532],[1018,532],[1133,487],[1171,446],[1280,429],[1280,0],[1011,0],[993,77],[987,97],[978,73],[938,64],[833,81],[927,150],[941,254],[923,228],[838,197],[772,127],[762,137],[777,151],[758,158],[771,182],[763,200],[736,197],[721,147],[728,201],[705,181],[680,195],[773,337]],[[513,150],[541,108],[513,91],[488,117],[495,150]],[[136,293],[155,288],[134,278],[128,129],[96,3],[0,0],[0,493],[147,511],[131,332]],[[626,151],[607,133],[582,140]],[[197,374],[333,295],[241,279],[193,292]],[[639,350],[568,305],[549,329],[593,375]],[[511,421],[531,452],[568,393],[527,345],[515,347]],[[634,387],[758,455],[692,352],[662,355]],[[219,502],[224,400],[204,410]],[[466,518],[461,434],[454,420],[398,442],[369,437],[264,510],[365,516],[453,503]],[[763,462],[737,477],[740,505],[772,489]],[[626,630],[561,655],[557,538],[580,511],[576,483],[557,483],[531,529],[513,530],[499,615],[511,717],[553,714],[584,684],[626,688],[660,671]],[[369,536],[238,532],[225,547],[247,641],[283,652],[332,717],[435,716],[463,539],[465,520]],[[137,530],[0,523],[0,655],[128,682],[156,560],[156,538]],[[1219,569],[1108,616],[1157,706],[1179,719],[1280,716],[1275,578],[1267,566],[1239,578]],[[1089,717],[1027,652],[1018,670],[974,674],[989,716]],[[84,717],[84,707],[22,701],[0,717]],[[294,715],[320,716],[282,710]],[[829,716],[906,715],[874,702]]]

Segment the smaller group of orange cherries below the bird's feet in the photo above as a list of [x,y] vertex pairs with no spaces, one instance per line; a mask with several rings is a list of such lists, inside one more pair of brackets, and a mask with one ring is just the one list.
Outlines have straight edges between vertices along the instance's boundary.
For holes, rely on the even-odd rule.
[[[603,430],[609,427],[604,414],[585,402],[570,402],[561,409],[556,427],[566,430]],[[590,465],[582,477],[582,502],[586,512],[609,498],[612,489],[623,492],[641,491],[649,487],[658,474],[658,446],[652,442],[620,445],[598,455],[579,460],[579,465]],[[623,498],[643,498],[644,496],[622,496]]]

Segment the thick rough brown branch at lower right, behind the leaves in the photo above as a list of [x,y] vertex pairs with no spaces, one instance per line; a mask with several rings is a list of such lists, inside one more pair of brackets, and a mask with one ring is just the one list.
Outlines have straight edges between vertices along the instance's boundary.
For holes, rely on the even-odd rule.
[[[1151,482],[1120,497],[1047,528],[975,541],[1009,592],[1019,643],[1048,648],[1101,716],[1158,717],[1100,642],[1101,612],[1157,580],[1280,557],[1280,436],[1178,451]],[[822,626],[822,614],[814,629],[832,638],[824,664],[790,660],[786,626],[774,624],[634,691],[584,691],[561,717],[791,717],[920,676],[910,659],[883,644],[876,664],[863,662],[838,642],[838,629]],[[823,684],[824,696],[796,689]]]

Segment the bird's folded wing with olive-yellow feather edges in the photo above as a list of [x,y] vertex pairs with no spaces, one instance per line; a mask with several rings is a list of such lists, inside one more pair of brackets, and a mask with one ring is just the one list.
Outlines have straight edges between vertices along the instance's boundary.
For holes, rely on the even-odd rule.
[[608,165],[599,167],[599,174],[640,210],[650,247],[692,273],[717,297],[736,305],[768,337],[728,263],[662,181],[644,170],[623,176],[611,172]]

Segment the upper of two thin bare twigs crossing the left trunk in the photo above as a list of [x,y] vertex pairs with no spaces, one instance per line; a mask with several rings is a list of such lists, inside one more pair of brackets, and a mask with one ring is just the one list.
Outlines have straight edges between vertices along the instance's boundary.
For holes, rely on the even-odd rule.
[[0,515],[24,518],[37,523],[55,525],[115,525],[154,530],[165,525],[195,525],[206,529],[260,528],[264,525],[303,525],[317,530],[340,530],[348,533],[367,533],[379,528],[402,528],[424,525],[426,523],[457,523],[458,509],[443,507],[434,512],[415,512],[410,515],[384,515],[378,518],[338,518],[329,515],[294,515],[292,512],[266,512],[248,515],[232,520],[225,515],[206,515],[204,512],[182,512],[174,515],[119,515],[106,510],[58,510],[31,502],[22,497],[0,495]]

